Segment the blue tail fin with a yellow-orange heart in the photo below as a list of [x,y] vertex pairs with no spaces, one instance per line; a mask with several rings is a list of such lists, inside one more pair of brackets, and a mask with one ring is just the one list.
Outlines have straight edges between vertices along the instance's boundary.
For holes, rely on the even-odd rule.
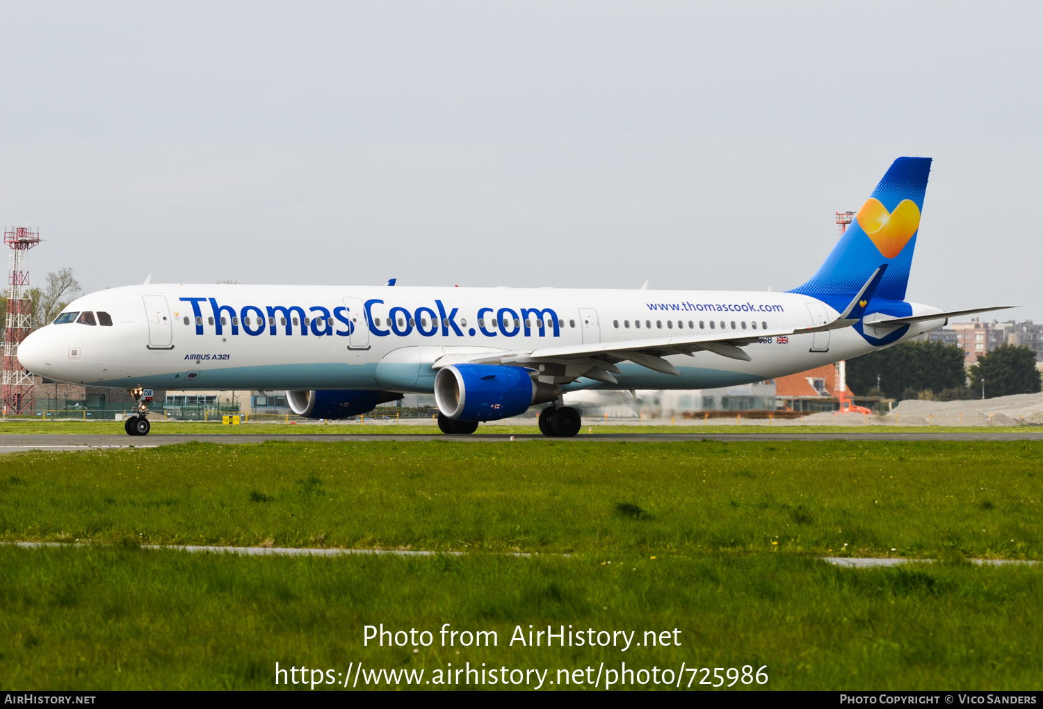
[[850,299],[887,265],[876,297],[904,300],[929,173],[930,157],[892,163],[818,273],[790,292]]

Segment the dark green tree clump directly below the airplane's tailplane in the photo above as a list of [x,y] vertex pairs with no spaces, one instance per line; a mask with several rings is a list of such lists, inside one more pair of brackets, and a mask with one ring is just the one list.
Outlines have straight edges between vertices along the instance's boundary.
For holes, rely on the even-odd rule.
[[847,361],[851,391],[877,387],[886,396],[902,398],[906,390],[921,398],[923,392],[941,392],[966,386],[964,350],[942,342],[912,340]]

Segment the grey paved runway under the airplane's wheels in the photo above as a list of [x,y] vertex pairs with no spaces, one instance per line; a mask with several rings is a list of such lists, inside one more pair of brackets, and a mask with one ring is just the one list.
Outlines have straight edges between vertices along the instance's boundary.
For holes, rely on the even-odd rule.
[[686,441],[1043,441],[1043,431],[1003,433],[757,433],[757,434],[703,434],[703,433],[635,433],[635,434],[580,434],[575,438],[552,438],[539,435],[475,434],[471,436],[443,436],[427,434],[156,434],[144,437],[105,434],[6,434],[0,435],[0,454],[25,450],[97,450],[123,448],[154,448],[178,443],[264,443],[266,441],[307,441],[321,443],[361,443],[393,441],[396,443],[458,441],[458,442],[524,442],[553,440],[562,443],[621,443],[655,442],[678,443]]

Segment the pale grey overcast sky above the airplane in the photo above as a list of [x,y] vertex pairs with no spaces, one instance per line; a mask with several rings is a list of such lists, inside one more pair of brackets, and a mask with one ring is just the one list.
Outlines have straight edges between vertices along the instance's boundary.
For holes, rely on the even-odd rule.
[[0,3],[35,284],[784,290],[899,155],[908,298],[1043,319],[1043,3]]

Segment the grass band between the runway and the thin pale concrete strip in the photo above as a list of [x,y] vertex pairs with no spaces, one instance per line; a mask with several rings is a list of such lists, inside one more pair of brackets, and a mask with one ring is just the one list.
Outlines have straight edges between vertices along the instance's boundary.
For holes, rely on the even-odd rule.
[[4,457],[0,540],[1043,558],[1043,443],[188,443]]

